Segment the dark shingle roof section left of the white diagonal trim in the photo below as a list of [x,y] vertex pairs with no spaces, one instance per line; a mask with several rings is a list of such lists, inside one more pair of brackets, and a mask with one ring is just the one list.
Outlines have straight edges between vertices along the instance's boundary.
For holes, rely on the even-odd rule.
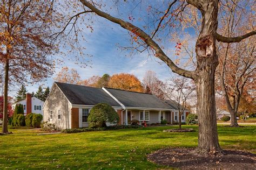
[[103,89],[60,82],[55,83],[72,104],[95,105],[107,103],[112,107],[120,107]]

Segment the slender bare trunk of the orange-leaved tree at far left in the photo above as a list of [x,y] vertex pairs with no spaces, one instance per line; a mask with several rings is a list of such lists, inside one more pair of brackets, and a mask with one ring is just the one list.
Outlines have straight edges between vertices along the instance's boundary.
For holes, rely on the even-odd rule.
[[4,65],[4,108],[2,133],[8,133],[8,81],[9,80],[9,59]]

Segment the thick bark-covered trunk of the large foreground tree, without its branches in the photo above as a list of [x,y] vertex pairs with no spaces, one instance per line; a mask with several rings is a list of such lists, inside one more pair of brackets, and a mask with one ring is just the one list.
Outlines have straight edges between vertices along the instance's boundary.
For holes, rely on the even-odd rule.
[[[191,1],[194,3],[194,1]],[[216,53],[216,30],[218,26],[218,1],[201,1],[194,4],[200,9],[203,20],[202,28],[196,43],[198,101],[198,148],[199,154],[221,152],[217,133],[215,109],[215,70],[218,66]]]

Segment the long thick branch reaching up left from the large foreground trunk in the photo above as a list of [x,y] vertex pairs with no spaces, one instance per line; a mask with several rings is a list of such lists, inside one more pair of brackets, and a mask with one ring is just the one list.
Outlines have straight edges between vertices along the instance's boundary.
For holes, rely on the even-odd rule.
[[179,68],[174,64],[174,62],[169,59],[169,57],[163,52],[163,50],[159,47],[159,45],[152,39],[150,36],[145,33],[143,30],[139,29],[139,27],[134,26],[133,24],[129,22],[125,22],[124,20],[116,17],[112,17],[111,15],[100,11],[95,6],[93,6],[91,3],[87,2],[86,0],[80,0],[80,2],[83,3],[87,8],[91,9],[93,12],[95,12],[98,16],[103,17],[107,20],[110,20],[113,23],[116,23],[120,26],[122,26],[124,29],[131,31],[132,33],[136,34],[140,39],[142,39],[147,45],[149,45],[154,51],[156,52],[156,57],[160,60],[164,61],[174,73],[177,73],[179,75],[188,77],[190,79],[195,79],[194,72],[185,70],[182,68]]

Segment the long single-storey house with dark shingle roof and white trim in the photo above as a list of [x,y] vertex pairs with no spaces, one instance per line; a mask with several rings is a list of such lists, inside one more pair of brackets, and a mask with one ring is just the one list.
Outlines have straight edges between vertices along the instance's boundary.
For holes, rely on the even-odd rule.
[[[178,121],[177,108],[152,94],[60,82],[53,83],[43,106],[43,119],[59,129],[87,127],[89,112],[98,103],[110,104],[119,115],[120,125],[128,125],[133,119],[147,124],[164,119],[170,123]],[[187,114],[188,110],[183,113],[182,122]]]

